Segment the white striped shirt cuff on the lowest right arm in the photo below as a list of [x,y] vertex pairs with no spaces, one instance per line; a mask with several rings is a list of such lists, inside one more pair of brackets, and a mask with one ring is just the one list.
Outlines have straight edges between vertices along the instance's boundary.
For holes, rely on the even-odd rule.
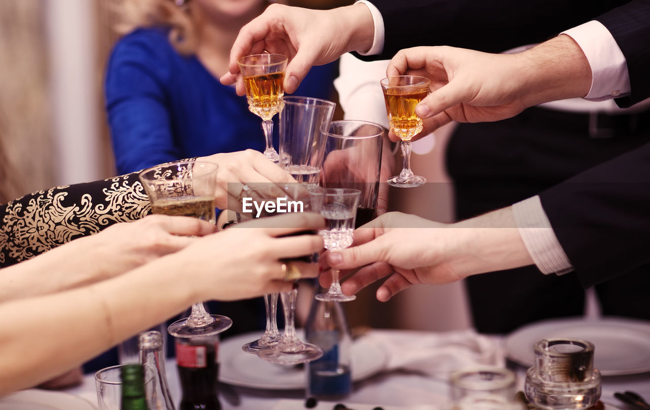
[[564,275],[573,271],[538,195],[513,204],[512,213],[521,239],[541,273]]

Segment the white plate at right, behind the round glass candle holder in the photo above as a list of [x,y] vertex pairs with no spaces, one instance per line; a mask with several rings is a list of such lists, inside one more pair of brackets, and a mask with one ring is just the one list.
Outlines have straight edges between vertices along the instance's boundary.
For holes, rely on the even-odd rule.
[[533,345],[545,338],[579,338],[593,343],[593,366],[603,376],[650,371],[650,322],[625,318],[567,318],[530,323],[506,338],[506,356],[534,364]]

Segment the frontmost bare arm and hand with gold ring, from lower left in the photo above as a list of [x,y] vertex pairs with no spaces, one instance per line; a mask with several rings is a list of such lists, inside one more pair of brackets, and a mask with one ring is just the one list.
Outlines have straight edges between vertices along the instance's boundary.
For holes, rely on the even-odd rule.
[[[280,259],[317,252],[322,239],[279,236],[324,221],[314,214],[265,219],[205,236],[92,286],[1,304],[0,396],[81,364],[192,303],[291,290],[293,283],[281,280]],[[304,277],[317,275],[313,264],[294,264]]]

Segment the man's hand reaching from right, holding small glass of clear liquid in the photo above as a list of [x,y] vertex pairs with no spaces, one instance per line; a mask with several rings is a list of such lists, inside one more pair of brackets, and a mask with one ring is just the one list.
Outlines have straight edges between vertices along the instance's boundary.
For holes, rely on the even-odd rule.
[[[376,297],[387,301],[413,284],[443,284],[469,275],[532,264],[512,210],[504,208],[456,224],[389,212],[354,231],[352,247],[324,253],[321,267],[355,269],[343,282],[354,294],[382,277]],[[348,271],[349,273],[350,271]],[[328,286],[331,273],[320,276]]]

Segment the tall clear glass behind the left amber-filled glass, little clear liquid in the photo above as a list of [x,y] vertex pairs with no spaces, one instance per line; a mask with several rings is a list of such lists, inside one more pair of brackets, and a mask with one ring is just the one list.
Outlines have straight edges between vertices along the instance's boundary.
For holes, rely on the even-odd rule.
[[280,163],[296,181],[318,185],[327,135],[336,104],[318,98],[288,96],[279,114]]

